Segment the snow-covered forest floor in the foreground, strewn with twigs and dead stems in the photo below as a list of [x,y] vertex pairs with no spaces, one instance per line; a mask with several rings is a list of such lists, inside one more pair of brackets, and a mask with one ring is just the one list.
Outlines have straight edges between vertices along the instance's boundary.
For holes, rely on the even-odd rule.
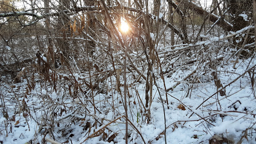
[[[167,105],[163,82],[157,79],[164,101],[167,143],[208,143],[214,134],[235,143],[240,139],[241,143],[256,143],[255,85],[251,84],[254,79],[249,76],[254,76],[254,68],[248,70],[255,65],[256,59],[239,60],[236,68],[233,63],[227,61],[218,69],[222,85],[226,86],[226,96],[214,94],[217,89],[213,79],[180,81],[191,69],[179,69],[164,77],[166,88],[180,82],[167,92]],[[49,135],[54,135],[55,141],[61,143],[125,143],[123,97],[114,90],[115,84],[111,85],[110,78],[106,81],[103,84],[107,85],[108,92],[94,91],[95,108],[98,109],[95,112],[92,103],[88,102],[91,97],[69,97],[65,86],[55,91],[52,86],[42,88],[40,81],[36,81],[35,88],[30,91],[24,79],[17,84],[1,84],[0,143],[40,143],[42,138],[53,139]],[[132,83],[129,78],[128,83]],[[64,83],[59,86],[61,84]],[[123,87],[120,89],[122,91]],[[142,104],[145,103],[144,89],[143,81],[128,88],[128,118],[132,123],[128,125],[129,143],[143,143],[141,136],[145,143],[164,143],[164,115],[157,87],[154,85],[152,90],[150,121],[145,112],[149,108],[144,109],[145,104]],[[52,101],[47,101],[49,99]],[[180,104],[184,108],[180,108]],[[54,123],[46,120],[47,116],[53,118]],[[96,129],[94,118],[98,120]]]

